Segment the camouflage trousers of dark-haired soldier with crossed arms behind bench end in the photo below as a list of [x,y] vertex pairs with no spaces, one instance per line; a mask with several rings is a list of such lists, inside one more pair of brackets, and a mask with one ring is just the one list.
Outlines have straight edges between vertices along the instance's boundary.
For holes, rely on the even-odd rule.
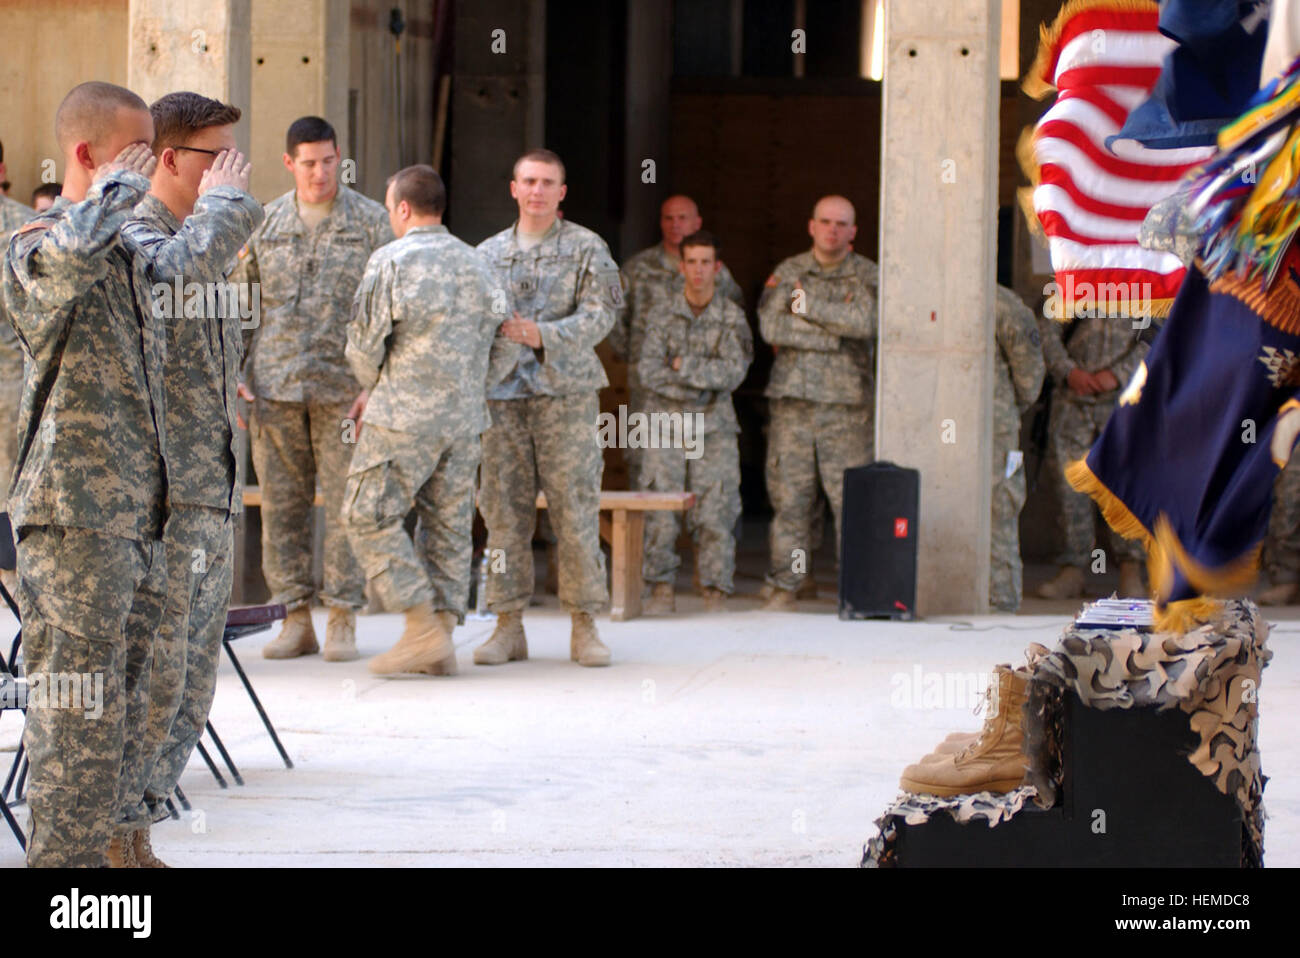
[[[702,437],[703,455],[686,459],[680,448],[644,448],[641,489],[696,494],[686,512],[686,530],[696,543],[699,585],[733,591],[736,575],[736,520],[740,519],[740,447],[734,433],[710,432]],[[647,582],[673,582],[681,556],[677,537],[681,513],[647,512],[645,555],[641,568]]]

